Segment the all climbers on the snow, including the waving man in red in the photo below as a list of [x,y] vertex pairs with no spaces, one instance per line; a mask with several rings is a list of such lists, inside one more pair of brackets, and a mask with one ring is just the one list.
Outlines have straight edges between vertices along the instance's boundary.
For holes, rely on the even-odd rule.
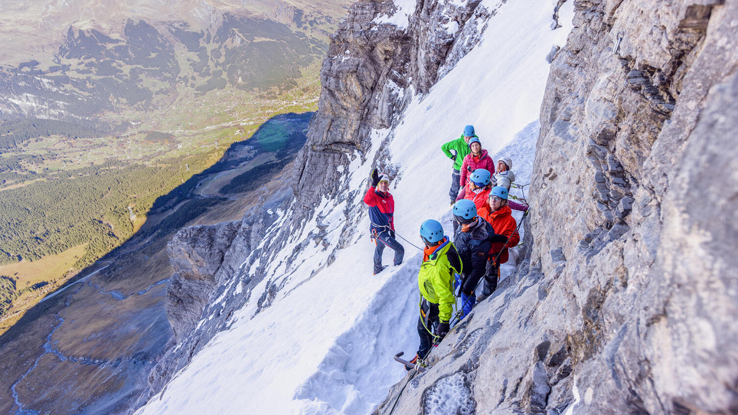
[[[429,219],[421,224],[420,237],[425,247],[418,272],[420,346],[410,361],[412,365],[421,364],[432,346],[449,332],[458,297],[461,297],[458,317],[463,318],[476,303],[497,289],[500,264],[508,261],[508,248],[520,242],[511,209],[525,213],[528,210],[528,205],[508,200],[515,179],[512,160],[501,157],[495,166],[473,126],[466,126],[461,137],[445,143],[441,150],[454,162],[449,190],[454,239],[449,240],[438,221]],[[401,264],[404,248],[395,239],[394,199],[388,191],[389,179],[373,170],[370,181],[364,202],[369,205],[372,238],[376,243],[376,275],[385,268],[382,266],[385,246],[395,251],[395,265]],[[484,288],[477,295],[475,291],[481,280],[485,281]]]

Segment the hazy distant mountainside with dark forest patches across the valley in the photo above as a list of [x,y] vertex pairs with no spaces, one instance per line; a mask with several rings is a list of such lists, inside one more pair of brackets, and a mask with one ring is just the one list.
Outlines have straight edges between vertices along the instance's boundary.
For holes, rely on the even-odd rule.
[[[85,18],[89,12],[78,18],[63,15],[69,24],[49,29],[58,39],[44,39],[42,51],[29,47],[0,56],[0,120],[53,118],[125,131],[121,112],[151,112],[186,90],[292,89],[303,70],[322,58],[336,16],[325,14],[330,9],[289,7],[289,13],[269,8],[258,13],[248,7],[178,4],[174,10],[181,14],[165,13],[167,18],[118,10],[105,21]],[[198,13],[204,15],[193,20]],[[17,32],[12,17],[3,16],[0,39]],[[51,24],[49,17],[42,21]],[[18,35],[10,50],[35,37]],[[17,56],[23,60],[14,63]]]

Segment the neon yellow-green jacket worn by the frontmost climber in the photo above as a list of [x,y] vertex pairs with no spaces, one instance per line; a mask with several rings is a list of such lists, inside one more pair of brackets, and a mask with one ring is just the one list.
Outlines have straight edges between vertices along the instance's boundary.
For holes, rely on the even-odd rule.
[[[432,253],[429,251],[432,249]],[[438,318],[442,322],[451,320],[454,312],[454,273],[461,273],[461,257],[449,241],[427,248],[425,260],[418,272],[420,294],[430,303],[438,304]]]

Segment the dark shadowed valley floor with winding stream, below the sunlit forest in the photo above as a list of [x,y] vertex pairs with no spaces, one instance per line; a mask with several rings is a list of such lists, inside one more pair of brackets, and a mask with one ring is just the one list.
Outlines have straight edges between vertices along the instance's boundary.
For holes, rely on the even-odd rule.
[[[272,117],[249,140],[160,196],[134,236],[0,336],[0,413],[123,413],[173,344],[166,244],[188,224],[241,219],[294,160],[312,113]],[[283,183],[289,186],[289,178]],[[30,413],[30,412],[29,412]]]

